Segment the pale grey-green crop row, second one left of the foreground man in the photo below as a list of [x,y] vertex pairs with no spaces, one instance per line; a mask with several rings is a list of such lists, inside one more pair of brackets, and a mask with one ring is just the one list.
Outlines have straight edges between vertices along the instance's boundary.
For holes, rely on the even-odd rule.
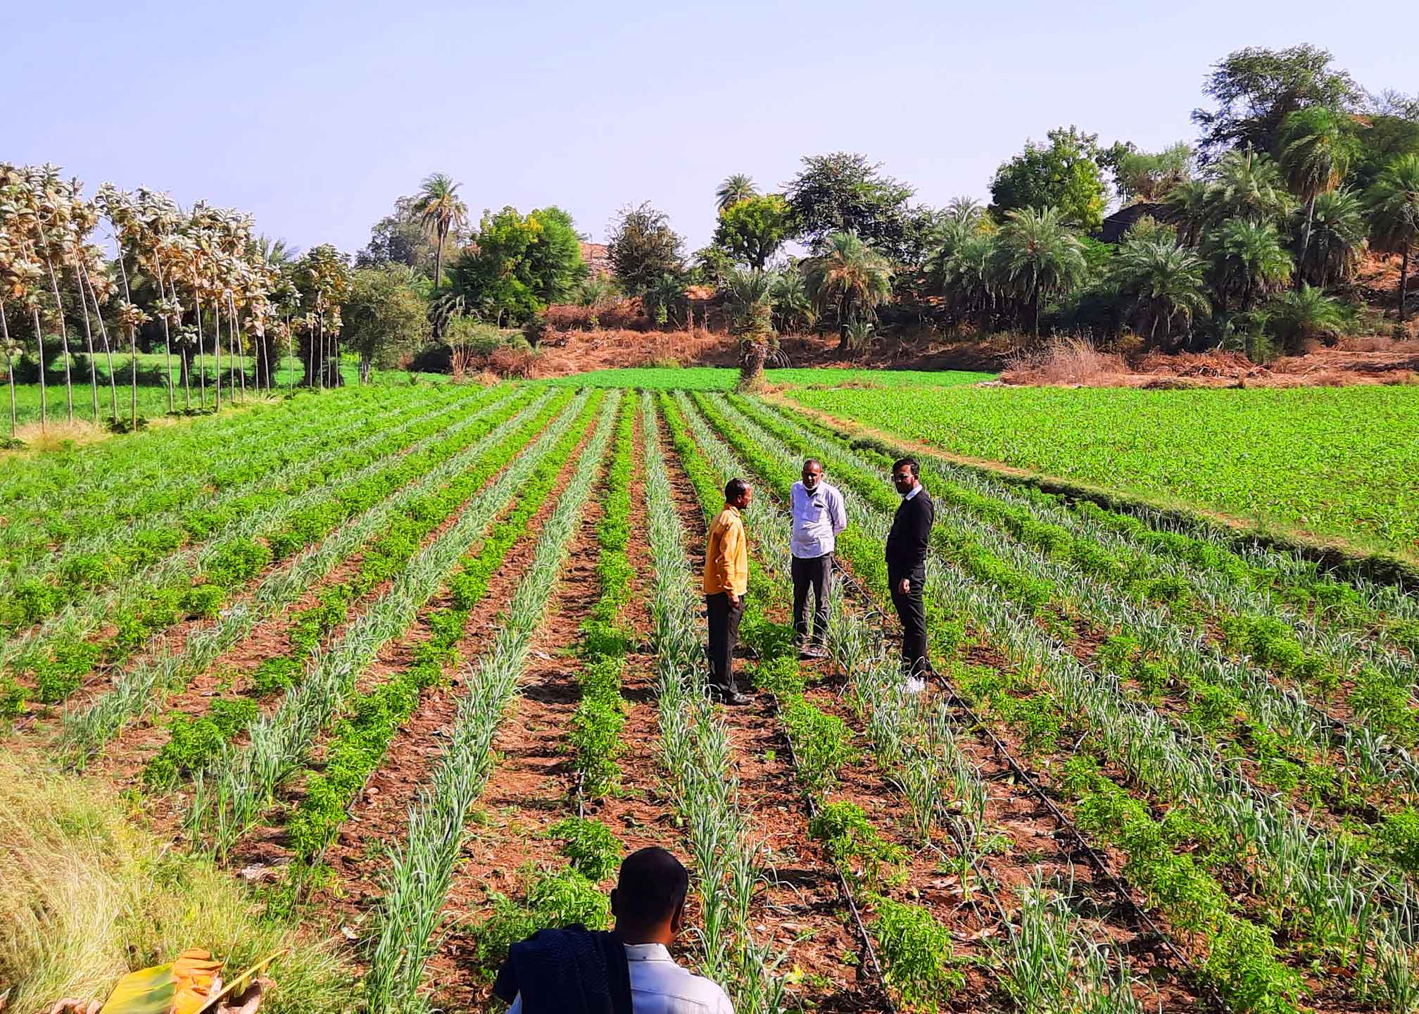
[[[534,443],[526,442],[535,426],[525,426],[485,456],[478,467],[458,473],[421,497],[416,513],[430,531],[444,518],[457,520],[389,575],[389,588],[345,628],[338,643],[311,659],[280,709],[251,726],[245,748],[224,756],[209,775],[199,777],[189,814],[194,835],[206,832],[214,849],[226,852],[245,834],[271,802],[277,787],[301,770],[316,734],[343,707],[359,675],[385,643],[409,626],[465,548],[575,423],[586,400],[585,395],[578,396]],[[498,479],[485,486],[492,476]]]

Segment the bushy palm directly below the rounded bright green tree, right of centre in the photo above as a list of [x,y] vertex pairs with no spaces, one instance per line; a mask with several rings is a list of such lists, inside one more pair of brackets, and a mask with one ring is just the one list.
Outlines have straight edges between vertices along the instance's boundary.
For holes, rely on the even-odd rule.
[[1057,207],[1022,207],[1006,216],[995,240],[992,271],[1019,298],[1040,337],[1040,305],[1078,285],[1088,273],[1084,247]]

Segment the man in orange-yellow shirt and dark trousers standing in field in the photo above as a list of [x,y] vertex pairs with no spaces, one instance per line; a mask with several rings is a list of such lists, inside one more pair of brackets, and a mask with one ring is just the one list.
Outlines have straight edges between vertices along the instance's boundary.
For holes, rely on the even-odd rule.
[[724,487],[724,510],[710,525],[705,543],[705,612],[710,614],[710,692],[727,704],[749,699],[734,685],[734,646],[739,640],[744,594],[749,591],[749,547],[744,517],[753,487],[731,479]]

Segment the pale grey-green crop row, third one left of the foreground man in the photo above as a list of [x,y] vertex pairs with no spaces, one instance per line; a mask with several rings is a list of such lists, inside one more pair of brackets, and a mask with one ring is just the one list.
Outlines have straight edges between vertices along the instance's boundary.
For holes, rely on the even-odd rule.
[[521,432],[532,419],[546,418],[558,408],[541,398],[518,410],[505,405],[488,420],[492,429],[467,449],[434,466],[427,474],[394,490],[362,514],[335,530],[319,545],[302,552],[287,569],[272,571],[254,592],[226,609],[216,623],[186,638],[176,652],[163,652],[128,669],[109,692],[89,707],[71,710],[64,717],[61,743],[71,761],[94,756],[125,723],[162,704],[166,694],[187,685],[206,670],[223,652],[233,648],[257,626],[295,602],[311,585],[319,582],[342,560],[359,552],[380,533],[392,517],[450,477],[475,464],[491,449],[499,447],[511,433]]

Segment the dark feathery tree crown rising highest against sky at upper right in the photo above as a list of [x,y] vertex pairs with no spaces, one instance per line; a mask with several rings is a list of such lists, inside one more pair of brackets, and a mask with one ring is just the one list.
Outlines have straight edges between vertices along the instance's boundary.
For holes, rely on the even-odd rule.
[[1364,91],[1330,62],[1331,54],[1314,45],[1249,47],[1219,61],[1202,85],[1216,108],[1192,111],[1202,131],[1202,160],[1213,162],[1232,148],[1276,151],[1281,124],[1303,107],[1354,108]]

